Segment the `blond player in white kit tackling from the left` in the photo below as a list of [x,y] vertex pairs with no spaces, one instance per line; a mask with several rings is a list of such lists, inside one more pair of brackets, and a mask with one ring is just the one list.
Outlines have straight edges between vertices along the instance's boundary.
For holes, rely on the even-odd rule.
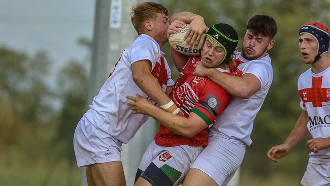
[[[131,9],[131,22],[139,37],[123,52],[74,134],[78,167],[86,166],[88,185],[125,185],[121,146],[149,116],[133,114],[128,95],[142,95],[153,104],[166,105],[174,85],[161,52],[168,42],[168,9],[161,4],[139,3]],[[167,112],[183,114],[173,105]]]

